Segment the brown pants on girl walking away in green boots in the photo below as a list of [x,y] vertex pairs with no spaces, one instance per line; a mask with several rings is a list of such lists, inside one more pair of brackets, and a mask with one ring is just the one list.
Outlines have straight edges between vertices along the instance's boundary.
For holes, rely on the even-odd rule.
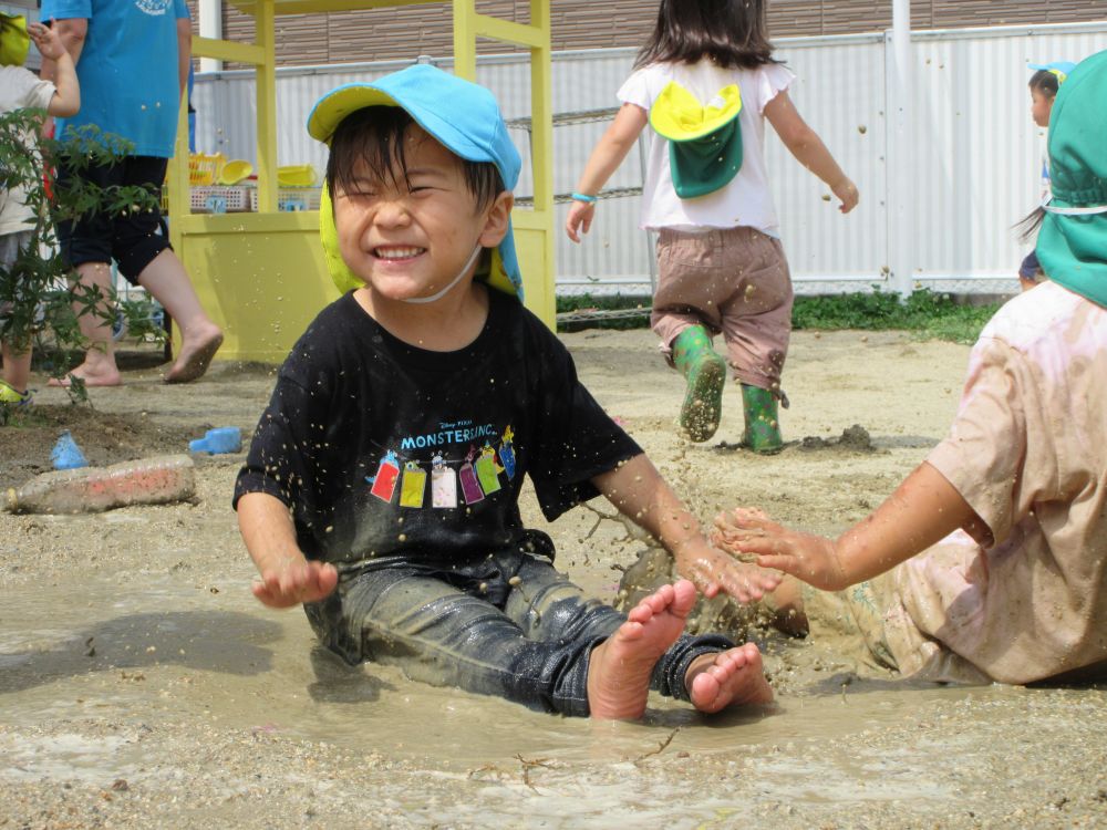
[[666,357],[690,325],[722,333],[734,376],[779,390],[792,334],[792,274],[780,240],[754,228],[662,229],[650,324]]

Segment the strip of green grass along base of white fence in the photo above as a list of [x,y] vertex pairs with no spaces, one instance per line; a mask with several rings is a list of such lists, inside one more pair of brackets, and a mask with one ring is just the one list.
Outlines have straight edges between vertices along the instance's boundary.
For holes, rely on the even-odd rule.
[[[886,291],[797,297],[793,328],[829,331],[835,329],[901,330],[921,339],[973,343],[1001,303],[972,304],[950,294],[920,289],[906,300]],[[604,318],[604,313],[628,313]],[[643,329],[650,324],[650,298],[609,294],[573,294],[557,298],[559,331],[580,329]],[[589,319],[589,315],[593,315]]]

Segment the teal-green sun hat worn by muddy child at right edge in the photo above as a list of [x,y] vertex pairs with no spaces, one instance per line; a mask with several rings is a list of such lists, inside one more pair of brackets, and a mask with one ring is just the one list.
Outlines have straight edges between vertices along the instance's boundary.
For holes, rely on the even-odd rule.
[[1049,116],[1053,195],[1038,232],[1046,276],[1107,308],[1107,51],[1068,75]]

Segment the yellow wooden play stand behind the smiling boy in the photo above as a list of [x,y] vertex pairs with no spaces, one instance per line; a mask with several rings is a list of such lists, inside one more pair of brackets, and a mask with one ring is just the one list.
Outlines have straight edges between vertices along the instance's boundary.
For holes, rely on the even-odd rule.
[[[318,210],[278,210],[275,20],[309,14],[414,6],[433,0],[235,0],[255,20],[255,42],[194,38],[193,54],[251,64],[257,71],[257,209],[194,214],[188,127],[182,105],[176,155],[169,164],[173,246],[208,314],[226,333],[217,360],[279,363],[328,302],[338,297],[323,263]],[[452,0],[454,71],[476,77],[477,38],[530,50],[534,208],[513,214],[527,307],[554,326],[554,139],[550,101],[550,0],[530,0],[530,23],[478,13],[475,0]],[[304,113],[304,118],[307,113]]]

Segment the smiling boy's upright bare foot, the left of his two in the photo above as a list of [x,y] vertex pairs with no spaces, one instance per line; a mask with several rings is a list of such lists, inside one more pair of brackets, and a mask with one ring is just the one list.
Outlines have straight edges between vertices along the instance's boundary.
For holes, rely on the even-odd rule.
[[695,585],[686,579],[662,585],[631,609],[627,622],[592,650],[588,663],[592,717],[642,717],[653,666],[684,631],[695,598]]

